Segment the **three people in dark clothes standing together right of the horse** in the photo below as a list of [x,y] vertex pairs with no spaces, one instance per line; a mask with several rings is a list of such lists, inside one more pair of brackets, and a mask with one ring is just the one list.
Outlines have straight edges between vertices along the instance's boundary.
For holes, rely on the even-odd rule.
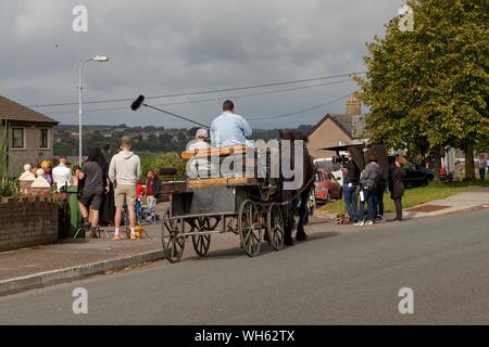
[[350,155],[343,168],[343,198],[349,222],[354,226],[372,226],[378,216],[384,218],[384,193],[387,184],[390,197],[396,205],[396,220],[401,221],[402,196],[404,195],[403,178],[405,176],[403,167],[406,165],[406,159],[400,155],[396,156],[394,163],[389,168],[387,181],[378,165],[378,155],[369,153],[367,160],[368,164],[361,171]]

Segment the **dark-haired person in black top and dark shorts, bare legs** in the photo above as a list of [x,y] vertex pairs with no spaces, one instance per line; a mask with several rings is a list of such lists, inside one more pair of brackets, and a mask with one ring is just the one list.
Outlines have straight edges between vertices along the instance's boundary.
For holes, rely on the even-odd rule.
[[[100,220],[100,207],[102,206],[105,192],[109,191],[109,182],[103,172],[106,166],[105,158],[102,151],[93,149],[90,155],[82,165],[82,170],[78,175],[83,180],[83,184],[78,183],[80,188],[79,211],[84,220],[83,226],[90,226],[91,236],[97,237],[97,228]],[[90,208],[90,211],[88,210]],[[91,220],[89,220],[91,216]]]

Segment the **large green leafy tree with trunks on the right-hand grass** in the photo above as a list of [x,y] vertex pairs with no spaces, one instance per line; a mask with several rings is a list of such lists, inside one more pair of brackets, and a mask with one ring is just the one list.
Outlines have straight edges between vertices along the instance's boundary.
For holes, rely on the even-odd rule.
[[439,174],[440,149],[466,153],[466,175],[475,178],[473,150],[489,132],[489,3],[487,0],[415,0],[414,30],[399,18],[386,36],[367,43],[366,78],[356,78],[371,106],[373,141],[432,152]]

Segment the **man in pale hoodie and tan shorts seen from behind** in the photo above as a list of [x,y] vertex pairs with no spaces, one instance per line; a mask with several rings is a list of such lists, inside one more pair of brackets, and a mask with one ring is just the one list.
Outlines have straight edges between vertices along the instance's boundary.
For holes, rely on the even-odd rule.
[[136,240],[136,182],[141,176],[141,160],[131,151],[129,138],[123,138],[121,152],[112,157],[109,166],[109,179],[114,184],[115,233],[114,240],[121,240],[121,221],[124,202],[129,211],[130,239]]

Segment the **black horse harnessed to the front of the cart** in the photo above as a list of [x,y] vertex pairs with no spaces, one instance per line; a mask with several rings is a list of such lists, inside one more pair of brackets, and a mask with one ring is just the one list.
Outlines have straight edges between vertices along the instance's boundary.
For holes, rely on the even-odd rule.
[[[297,224],[297,241],[306,240],[308,235],[304,231],[304,222],[306,218],[306,209],[309,204],[309,196],[311,190],[314,187],[314,178],[316,175],[316,167],[314,165],[313,158],[309,154],[306,143],[306,138],[297,131],[290,130],[279,130],[280,146],[290,147],[290,167],[293,167],[296,157],[296,141],[301,140],[303,142],[302,151],[302,164],[299,168],[293,167],[293,170],[302,170],[302,182],[296,190],[284,190],[283,198],[284,201],[290,201],[291,203],[285,205],[285,231],[284,231],[284,243],[286,245],[292,245],[292,230],[296,226],[296,211],[299,214],[299,221]],[[287,140],[287,141],[286,141]],[[294,178],[293,178],[294,179]],[[292,179],[289,179],[292,180]],[[298,207],[299,206],[299,207]]]

